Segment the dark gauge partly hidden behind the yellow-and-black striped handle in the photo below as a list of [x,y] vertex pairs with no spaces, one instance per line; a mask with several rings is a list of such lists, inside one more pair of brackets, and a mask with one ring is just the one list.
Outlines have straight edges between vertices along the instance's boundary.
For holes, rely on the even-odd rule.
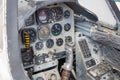
[[24,39],[24,32],[27,32],[29,34],[30,37],[30,43],[33,43],[36,41],[36,31],[34,28],[28,28],[28,29],[23,29],[21,31],[21,36],[22,36],[22,43],[25,43],[25,39]]

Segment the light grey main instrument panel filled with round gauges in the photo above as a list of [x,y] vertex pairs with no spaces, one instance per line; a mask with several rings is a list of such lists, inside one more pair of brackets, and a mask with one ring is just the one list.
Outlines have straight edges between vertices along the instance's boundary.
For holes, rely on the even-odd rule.
[[[66,44],[74,45],[74,31],[74,11],[65,4],[46,6],[35,11],[19,30],[20,48],[25,49],[29,45],[33,51],[33,61],[31,64],[25,62],[28,64],[24,65],[25,69],[32,65],[34,72],[37,72],[47,64],[49,66],[43,69],[56,66],[54,60],[65,57]],[[27,37],[24,32],[28,33]],[[29,54],[29,48],[27,52]],[[24,57],[22,56],[23,59]]]

